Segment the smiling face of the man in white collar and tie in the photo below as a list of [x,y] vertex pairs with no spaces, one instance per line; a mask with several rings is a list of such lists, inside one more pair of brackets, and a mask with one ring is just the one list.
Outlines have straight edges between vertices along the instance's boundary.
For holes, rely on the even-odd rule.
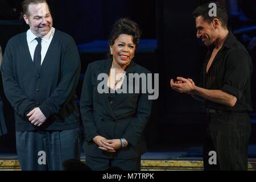
[[24,15],[24,20],[30,26],[30,30],[43,38],[52,28],[52,16],[47,3],[31,4],[28,6],[29,15]]

